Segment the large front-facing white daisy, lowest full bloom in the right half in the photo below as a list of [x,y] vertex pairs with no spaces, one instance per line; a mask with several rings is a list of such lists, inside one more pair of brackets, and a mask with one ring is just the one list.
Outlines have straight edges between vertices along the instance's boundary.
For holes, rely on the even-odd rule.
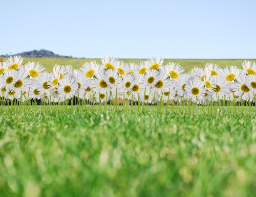
[[191,80],[185,86],[185,91],[192,102],[202,100],[205,94],[204,84],[200,80]]

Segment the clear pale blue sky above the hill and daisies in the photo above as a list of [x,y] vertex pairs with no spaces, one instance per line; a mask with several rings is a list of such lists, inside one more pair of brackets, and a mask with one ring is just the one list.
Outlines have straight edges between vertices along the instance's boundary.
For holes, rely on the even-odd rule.
[[256,58],[255,0],[8,0],[0,21],[0,54]]

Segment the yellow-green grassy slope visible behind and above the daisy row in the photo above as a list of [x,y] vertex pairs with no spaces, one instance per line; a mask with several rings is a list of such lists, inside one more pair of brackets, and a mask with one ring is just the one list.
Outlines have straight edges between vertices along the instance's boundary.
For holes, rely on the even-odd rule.
[[[5,60],[6,58],[4,58]],[[119,59],[120,61],[124,62],[140,62],[142,60],[146,59]],[[71,64],[75,69],[79,68],[78,66],[78,59],[76,58],[24,58],[24,63],[27,63],[29,61],[35,61],[35,62],[40,62],[42,65],[44,65],[47,68],[47,71],[52,71],[52,67],[55,64],[60,64],[60,65],[66,65],[66,64]],[[85,62],[88,61],[96,61],[98,63],[101,62],[101,59],[79,59],[80,61],[80,66],[84,64]],[[221,67],[224,66],[231,66],[231,65],[236,65],[238,67],[242,67],[242,62],[244,59],[165,59],[164,64],[168,62],[175,62],[179,63],[183,68],[188,71],[193,67],[204,67],[206,63],[216,63]],[[254,62],[256,59],[250,59],[250,61]]]

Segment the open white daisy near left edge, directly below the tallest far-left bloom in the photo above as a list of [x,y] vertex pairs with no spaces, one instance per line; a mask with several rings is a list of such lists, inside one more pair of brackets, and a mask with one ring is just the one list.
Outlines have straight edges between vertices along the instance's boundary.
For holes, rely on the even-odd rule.
[[0,77],[0,87],[6,87],[7,90],[12,90],[13,85],[18,80],[18,71],[7,70],[3,76]]

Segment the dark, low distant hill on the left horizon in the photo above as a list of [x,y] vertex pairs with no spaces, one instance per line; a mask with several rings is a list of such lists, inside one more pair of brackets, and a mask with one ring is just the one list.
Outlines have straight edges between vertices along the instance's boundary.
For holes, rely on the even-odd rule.
[[72,56],[61,56],[58,54],[55,54],[51,51],[48,50],[33,50],[33,51],[29,51],[29,52],[22,52],[22,53],[18,53],[18,54],[12,54],[12,55],[0,55],[1,57],[9,57],[9,56],[22,56],[25,58],[72,58]]

